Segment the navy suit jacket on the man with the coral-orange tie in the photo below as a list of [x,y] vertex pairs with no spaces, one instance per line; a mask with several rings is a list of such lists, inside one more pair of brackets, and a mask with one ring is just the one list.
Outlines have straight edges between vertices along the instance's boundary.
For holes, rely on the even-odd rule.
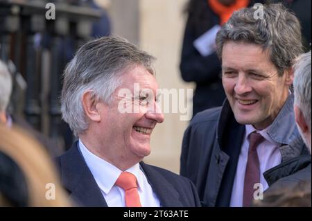
[[[78,150],[77,142],[55,161],[60,170],[62,185],[77,206],[107,206],[85,159]],[[161,206],[200,206],[196,188],[189,179],[143,162],[140,166]]]

